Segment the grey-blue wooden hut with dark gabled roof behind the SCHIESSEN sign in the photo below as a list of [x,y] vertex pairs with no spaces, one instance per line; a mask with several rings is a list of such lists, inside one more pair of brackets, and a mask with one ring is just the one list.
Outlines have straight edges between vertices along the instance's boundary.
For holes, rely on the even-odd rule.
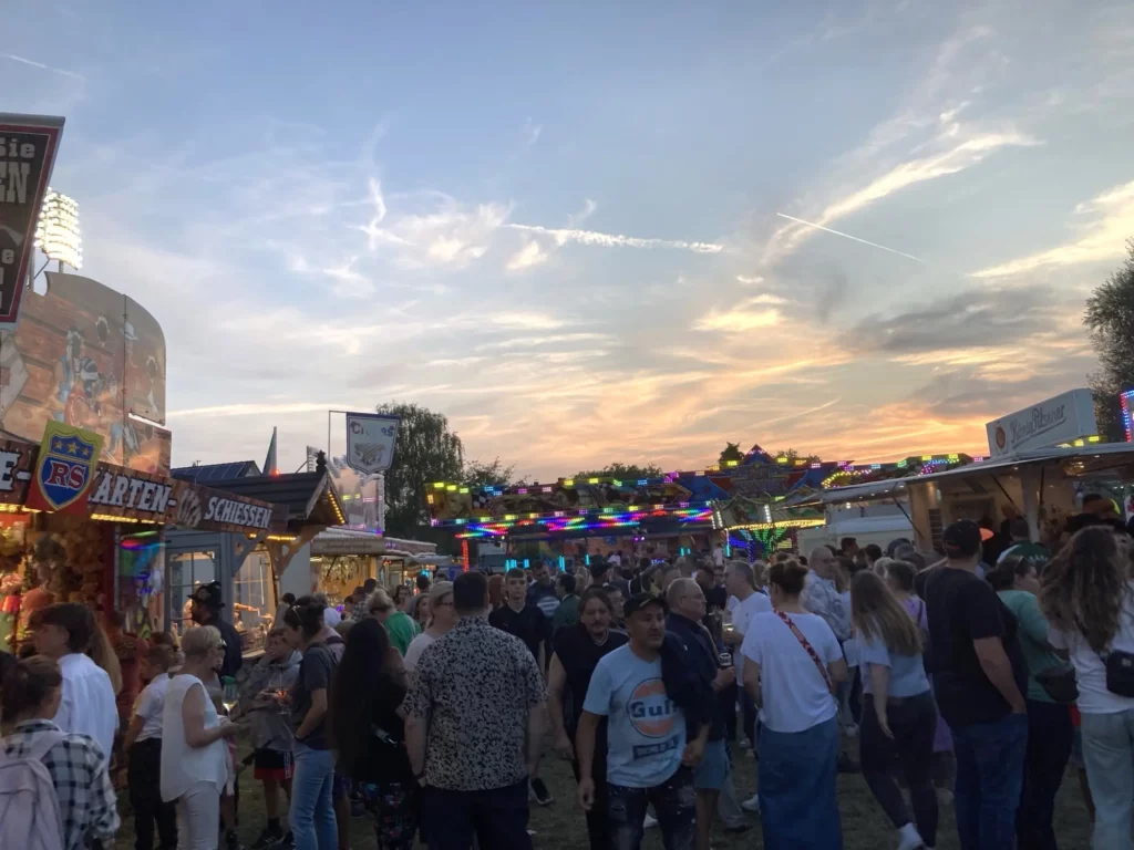
[[[194,477],[192,470],[176,470],[174,475]],[[328,526],[342,525],[346,516],[322,452],[311,473],[240,475],[212,478],[210,484],[227,499],[270,504],[279,522],[260,530],[169,532],[170,581],[186,588],[186,602],[197,584],[220,581],[227,614],[240,631],[243,648],[255,653],[263,648],[282,593],[281,578],[293,560]],[[188,609],[175,610],[174,617],[180,626],[188,618]]]

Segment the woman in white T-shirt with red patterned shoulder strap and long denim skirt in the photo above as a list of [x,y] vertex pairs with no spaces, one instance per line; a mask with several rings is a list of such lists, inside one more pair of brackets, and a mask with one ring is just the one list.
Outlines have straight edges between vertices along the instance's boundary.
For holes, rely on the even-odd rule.
[[833,694],[847,665],[831,627],[799,604],[806,577],[797,561],[772,564],[773,610],[752,618],[741,645],[744,688],[760,707],[759,797],[768,850],[843,847]]

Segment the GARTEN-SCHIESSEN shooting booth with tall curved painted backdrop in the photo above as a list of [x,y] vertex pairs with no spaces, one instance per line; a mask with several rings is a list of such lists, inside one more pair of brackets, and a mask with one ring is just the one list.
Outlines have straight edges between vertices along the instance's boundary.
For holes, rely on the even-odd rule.
[[[254,649],[294,550],[342,521],[325,475],[244,492],[222,479],[259,469],[171,475],[156,320],[78,274],[48,272],[37,287],[24,292],[15,331],[0,333],[0,648],[57,601],[121,615],[128,632],[178,631],[194,587],[218,580],[222,615]],[[52,439],[76,452],[57,457],[59,469],[86,483],[67,504],[56,487],[58,507],[28,502]]]

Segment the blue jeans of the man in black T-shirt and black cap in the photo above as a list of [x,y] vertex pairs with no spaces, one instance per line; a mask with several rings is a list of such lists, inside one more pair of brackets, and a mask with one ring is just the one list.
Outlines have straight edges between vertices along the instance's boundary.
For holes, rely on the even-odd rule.
[[953,800],[960,850],[1014,850],[1027,715],[1008,714],[992,723],[957,726],[953,747],[957,756]]

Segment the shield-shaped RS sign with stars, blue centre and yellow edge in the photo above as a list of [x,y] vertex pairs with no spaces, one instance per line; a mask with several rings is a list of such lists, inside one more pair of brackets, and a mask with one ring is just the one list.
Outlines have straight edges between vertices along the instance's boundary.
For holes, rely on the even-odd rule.
[[61,422],[43,430],[27,507],[41,511],[85,513],[86,496],[102,452],[102,437]]

